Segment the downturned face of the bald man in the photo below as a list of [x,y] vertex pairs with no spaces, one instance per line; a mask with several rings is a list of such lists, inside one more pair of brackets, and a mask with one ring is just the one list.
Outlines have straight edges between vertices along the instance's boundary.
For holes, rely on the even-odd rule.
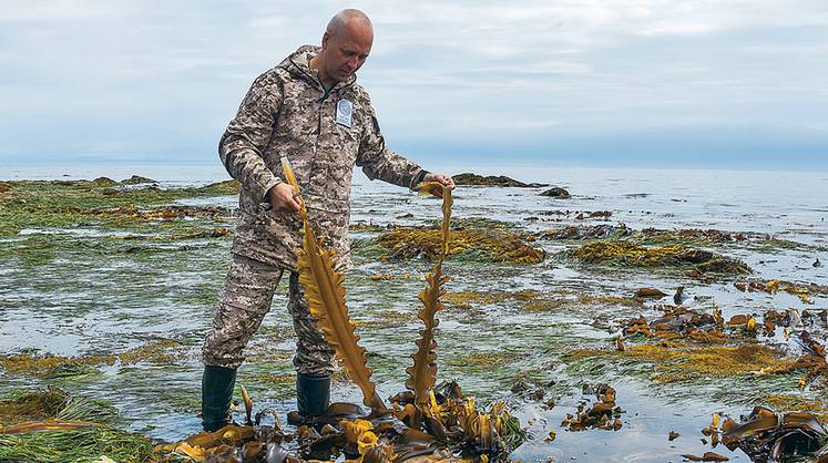
[[339,33],[325,32],[321,71],[327,75],[321,75],[323,80],[344,81],[350,78],[368,59],[372,42],[374,32],[369,25],[350,24]]

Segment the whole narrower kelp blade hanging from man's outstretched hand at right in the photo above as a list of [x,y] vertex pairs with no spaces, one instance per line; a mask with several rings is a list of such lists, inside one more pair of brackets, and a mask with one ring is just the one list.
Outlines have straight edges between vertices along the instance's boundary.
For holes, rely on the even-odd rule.
[[442,274],[442,261],[446,259],[449,247],[449,223],[453,202],[451,199],[451,189],[443,187],[440,183],[429,182],[420,184],[420,186],[428,191],[439,188],[441,194],[437,196],[442,197],[442,251],[440,254],[440,264],[435,267],[432,274],[426,274],[428,287],[419,295],[422,309],[418,313],[426,328],[420,330],[420,339],[416,341],[417,352],[411,356],[413,366],[406,369],[406,372],[409,374],[408,380],[406,380],[406,388],[413,391],[417,403],[425,404],[429,401],[429,390],[435,387],[437,381],[435,328],[437,328],[439,321],[436,319],[436,315],[443,308],[440,302],[440,296],[444,291],[442,291],[441,287],[449,279],[449,277]]

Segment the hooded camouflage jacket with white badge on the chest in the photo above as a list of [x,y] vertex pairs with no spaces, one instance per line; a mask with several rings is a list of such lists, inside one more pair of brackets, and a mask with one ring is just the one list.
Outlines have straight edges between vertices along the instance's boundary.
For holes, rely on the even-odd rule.
[[301,220],[295,213],[269,210],[265,198],[284,182],[280,157],[287,156],[317,236],[323,246],[336,250],[341,270],[350,267],[354,165],[371,179],[407,187],[425,171],[386,147],[368,93],[356,84],[356,75],[325,92],[308,68],[318,52],[318,47],[301,47],[253,82],[222,136],[218,154],[242,183],[233,253],[296,268]]

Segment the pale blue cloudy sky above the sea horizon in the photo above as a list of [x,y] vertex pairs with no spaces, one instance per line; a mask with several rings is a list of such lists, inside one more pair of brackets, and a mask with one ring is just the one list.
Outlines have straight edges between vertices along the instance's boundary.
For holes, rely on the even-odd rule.
[[217,163],[349,7],[387,144],[429,167],[828,169],[825,0],[0,0],[0,162]]

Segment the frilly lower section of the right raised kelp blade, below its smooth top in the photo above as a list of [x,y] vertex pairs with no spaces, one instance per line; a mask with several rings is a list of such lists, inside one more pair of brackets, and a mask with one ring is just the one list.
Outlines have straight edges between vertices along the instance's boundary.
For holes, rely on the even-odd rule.
[[419,404],[428,403],[429,390],[435,387],[437,381],[435,328],[437,328],[439,321],[435,318],[435,315],[443,308],[440,296],[444,291],[441,290],[440,286],[448,279],[449,277],[442,274],[441,266],[435,267],[433,274],[426,274],[428,288],[423,289],[419,296],[422,301],[419,318],[426,323],[426,328],[420,330],[420,339],[416,341],[417,352],[411,354],[415,361],[413,366],[406,369],[409,374],[408,380],[406,380],[406,388],[415,393]]

